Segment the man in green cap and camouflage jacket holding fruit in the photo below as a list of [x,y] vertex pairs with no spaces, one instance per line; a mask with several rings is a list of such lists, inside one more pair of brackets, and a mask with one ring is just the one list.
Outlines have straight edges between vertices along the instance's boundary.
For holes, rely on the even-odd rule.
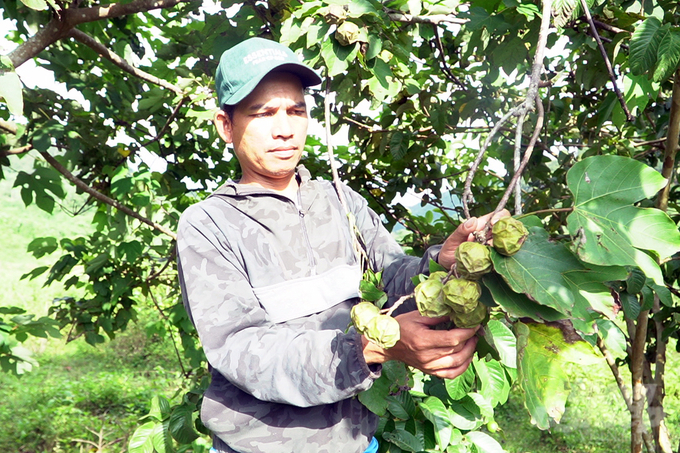
[[[417,311],[396,317],[401,340],[388,350],[347,329],[361,279],[347,218],[332,184],[298,165],[303,89],[320,82],[288,48],[260,38],[226,51],[218,67],[214,123],[242,176],[187,209],[178,231],[182,294],[212,373],[201,417],[218,452],[367,451],[377,417],[355,396],[382,363],[454,378],[474,353],[475,329],[431,330],[443,319]],[[413,290],[430,258],[450,268],[487,221],[471,219],[422,259],[409,257],[366,201],[343,191],[393,299]]]

